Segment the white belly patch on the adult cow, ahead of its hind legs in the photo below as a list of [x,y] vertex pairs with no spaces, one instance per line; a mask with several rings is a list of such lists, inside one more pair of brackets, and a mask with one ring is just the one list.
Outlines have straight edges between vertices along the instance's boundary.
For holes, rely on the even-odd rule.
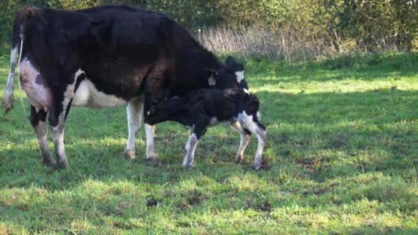
[[[80,73],[78,76],[85,74],[84,71],[81,71],[80,69],[79,71]],[[120,106],[126,104],[126,101],[116,96],[98,91],[94,83],[86,77],[85,80],[80,82],[72,104],[77,107],[103,108]]]

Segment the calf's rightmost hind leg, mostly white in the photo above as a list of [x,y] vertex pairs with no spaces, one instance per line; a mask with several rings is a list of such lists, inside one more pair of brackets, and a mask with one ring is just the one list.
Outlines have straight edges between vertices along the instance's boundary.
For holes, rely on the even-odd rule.
[[248,131],[256,135],[257,139],[259,139],[259,146],[257,147],[252,166],[255,170],[259,170],[261,167],[261,155],[263,154],[263,148],[267,139],[265,126],[257,120],[256,115],[247,115],[245,112],[239,118],[239,122],[243,128],[248,129]]

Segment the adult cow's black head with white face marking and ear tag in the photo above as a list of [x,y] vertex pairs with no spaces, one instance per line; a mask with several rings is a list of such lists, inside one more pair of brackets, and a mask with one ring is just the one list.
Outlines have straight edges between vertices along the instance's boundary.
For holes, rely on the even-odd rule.
[[208,71],[210,74],[208,78],[209,87],[248,89],[247,81],[244,78],[244,66],[237,63],[231,56],[226,58],[222,69]]

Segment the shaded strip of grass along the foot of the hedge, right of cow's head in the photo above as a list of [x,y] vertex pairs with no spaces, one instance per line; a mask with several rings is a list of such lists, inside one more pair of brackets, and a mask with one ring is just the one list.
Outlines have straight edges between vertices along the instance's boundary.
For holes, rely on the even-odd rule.
[[[399,77],[415,76],[418,73],[418,55],[342,56],[339,59],[333,58],[306,65],[250,62],[247,67],[250,87],[259,87],[271,82],[286,85],[295,82],[373,81],[382,78],[396,81]],[[253,79],[253,76],[256,79]]]

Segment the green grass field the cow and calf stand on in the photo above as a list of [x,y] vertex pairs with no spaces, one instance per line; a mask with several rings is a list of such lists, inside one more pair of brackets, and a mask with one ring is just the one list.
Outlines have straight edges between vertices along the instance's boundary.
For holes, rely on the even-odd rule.
[[[157,126],[161,166],[146,162],[143,128],[124,159],[124,107],[73,108],[69,169],[45,168],[15,101],[0,115],[0,234],[417,234],[418,56],[245,66],[268,130],[259,171],[256,138],[234,164],[239,135],[224,125],[191,170],[180,166],[188,130],[172,122]],[[1,97],[8,69],[3,52]]]

